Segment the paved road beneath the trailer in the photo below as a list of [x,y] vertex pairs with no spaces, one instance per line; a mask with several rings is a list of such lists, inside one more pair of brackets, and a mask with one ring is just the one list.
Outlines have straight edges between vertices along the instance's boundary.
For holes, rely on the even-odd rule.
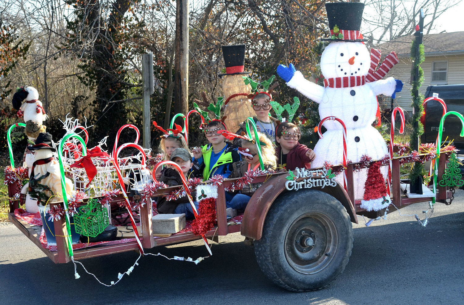
[[[258,268],[253,248],[232,234],[213,244],[213,256],[198,266],[142,257],[116,286],[99,285],[82,268],[53,264],[13,225],[0,225],[2,304],[464,304],[464,191],[450,206],[437,203],[427,226],[398,212],[369,227],[354,225],[347,268],[327,288],[290,293],[274,286]],[[401,209],[421,213],[426,203]],[[422,214],[419,214],[423,218]],[[364,223],[363,219],[360,222]],[[153,250],[154,251],[154,250]],[[198,257],[199,242],[156,252]],[[106,283],[133,264],[134,252],[84,260]]]

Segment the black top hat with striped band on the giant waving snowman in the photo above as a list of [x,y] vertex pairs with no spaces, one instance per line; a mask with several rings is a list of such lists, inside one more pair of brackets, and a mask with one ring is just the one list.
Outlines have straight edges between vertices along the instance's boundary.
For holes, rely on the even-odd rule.
[[360,31],[364,3],[326,3],[325,8],[332,36],[321,40],[346,42],[367,41],[367,39],[362,37]]

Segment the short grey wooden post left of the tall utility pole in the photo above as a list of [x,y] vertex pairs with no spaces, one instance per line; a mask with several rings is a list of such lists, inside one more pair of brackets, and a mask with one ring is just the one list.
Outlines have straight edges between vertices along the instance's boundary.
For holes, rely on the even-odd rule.
[[143,78],[143,147],[150,148],[150,94],[155,92],[153,87],[153,54],[142,55]]

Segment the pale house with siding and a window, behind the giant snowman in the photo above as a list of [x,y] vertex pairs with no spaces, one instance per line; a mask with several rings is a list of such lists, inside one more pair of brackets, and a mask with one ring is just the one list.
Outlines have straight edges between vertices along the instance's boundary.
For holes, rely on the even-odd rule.
[[[398,62],[388,73],[395,79],[404,82],[403,90],[396,94],[396,99],[379,97],[382,109],[396,106],[412,112],[411,107],[411,42],[414,36],[402,36],[384,44],[380,44],[383,57],[390,51],[396,52]],[[464,83],[464,31],[424,35],[425,61],[421,67],[424,70],[424,83],[420,92],[430,85],[463,84]]]

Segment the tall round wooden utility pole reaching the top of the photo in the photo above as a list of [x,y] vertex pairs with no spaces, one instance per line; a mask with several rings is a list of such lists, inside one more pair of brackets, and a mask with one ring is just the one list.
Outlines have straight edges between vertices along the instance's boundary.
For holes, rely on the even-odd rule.
[[176,6],[174,111],[188,112],[188,0],[177,0]]

